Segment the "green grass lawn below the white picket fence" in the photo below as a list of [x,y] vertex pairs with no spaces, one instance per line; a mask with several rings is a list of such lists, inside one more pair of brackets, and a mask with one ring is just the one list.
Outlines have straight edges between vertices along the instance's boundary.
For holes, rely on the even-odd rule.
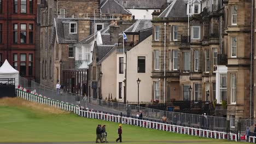
[[[0,99],[1,103],[1,99]],[[49,114],[26,106],[1,106],[0,142],[95,142],[97,124],[106,124],[108,141],[117,139],[118,123],[82,118],[71,113]],[[123,125],[125,143],[234,143]]]

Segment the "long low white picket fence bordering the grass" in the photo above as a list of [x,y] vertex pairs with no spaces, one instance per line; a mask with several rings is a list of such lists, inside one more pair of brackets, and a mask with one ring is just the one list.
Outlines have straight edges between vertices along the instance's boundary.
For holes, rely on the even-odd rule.
[[[60,102],[58,100],[42,97],[41,95],[27,93],[25,91],[22,91],[21,89],[17,89],[17,95],[18,97],[21,97],[26,100],[34,101],[39,104],[54,106],[58,109],[62,109],[66,111],[73,111],[75,114],[81,117],[86,117],[86,118],[102,119],[104,121],[117,122],[117,123],[129,124],[129,125],[137,125],[138,127],[143,127],[143,128],[171,131],[173,133],[208,137],[212,139],[227,139],[227,136],[228,136],[226,133],[222,131],[212,131],[212,130],[206,130],[206,129],[183,127],[179,125],[158,123],[158,122],[146,121],[146,120],[135,119],[130,117],[121,117],[120,115],[118,116],[109,115],[102,112],[80,110],[78,105],[68,104],[68,103],[64,103],[63,101]],[[237,141],[237,134],[230,133],[229,137],[230,137],[230,140]]]

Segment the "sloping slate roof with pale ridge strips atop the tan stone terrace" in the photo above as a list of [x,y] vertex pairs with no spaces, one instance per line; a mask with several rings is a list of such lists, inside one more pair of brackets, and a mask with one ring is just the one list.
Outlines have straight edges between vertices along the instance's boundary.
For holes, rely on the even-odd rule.
[[170,5],[158,17],[188,17],[188,0],[171,0]]

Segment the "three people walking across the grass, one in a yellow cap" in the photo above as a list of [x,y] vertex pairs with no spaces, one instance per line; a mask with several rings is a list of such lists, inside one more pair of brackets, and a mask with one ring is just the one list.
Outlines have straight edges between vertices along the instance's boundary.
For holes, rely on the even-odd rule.
[[[122,125],[119,124],[118,128],[118,138],[115,140],[115,142],[122,142]],[[96,128],[96,143],[99,143],[98,140],[100,140],[101,143],[108,142],[107,141],[107,131],[106,131],[106,125],[103,125],[101,127],[101,124],[98,124],[98,127]]]

